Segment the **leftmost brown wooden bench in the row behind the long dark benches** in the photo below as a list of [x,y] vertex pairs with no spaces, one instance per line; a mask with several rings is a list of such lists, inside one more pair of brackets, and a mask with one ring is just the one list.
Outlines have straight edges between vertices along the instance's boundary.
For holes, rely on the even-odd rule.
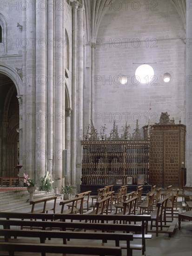
[[[54,200],[53,207],[47,208],[46,203],[52,200]],[[51,210],[53,211],[53,213],[55,213],[56,200],[57,200],[57,195],[53,195],[53,196],[48,196],[48,197],[30,201],[30,204],[32,204],[31,213],[48,213],[48,211],[51,211]],[[34,210],[35,205],[37,205],[38,203],[44,203],[43,209]]]

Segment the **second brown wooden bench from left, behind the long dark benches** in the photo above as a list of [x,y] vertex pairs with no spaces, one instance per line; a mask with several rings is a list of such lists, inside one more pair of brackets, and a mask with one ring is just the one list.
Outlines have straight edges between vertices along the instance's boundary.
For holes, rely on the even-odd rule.
[[[61,201],[61,211],[62,214],[74,214],[79,212],[79,214],[83,214],[83,202],[84,202],[84,196],[75,197],[73,199]],[[69,204],[70,203],[70,204]],[[65,206],[70,207],[66,210],[64,210]]]

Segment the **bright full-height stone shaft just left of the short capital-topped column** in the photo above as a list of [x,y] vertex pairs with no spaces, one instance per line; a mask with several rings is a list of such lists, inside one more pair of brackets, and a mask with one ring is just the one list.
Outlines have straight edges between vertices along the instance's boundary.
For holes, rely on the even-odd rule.
[[[64,1],[62,4],[64,5]],[[63,10],[58,8],[55,1],[55,187],[62,185],[62,119],[63,119],[63,88],[65,88],[65,75],[63,76]]]

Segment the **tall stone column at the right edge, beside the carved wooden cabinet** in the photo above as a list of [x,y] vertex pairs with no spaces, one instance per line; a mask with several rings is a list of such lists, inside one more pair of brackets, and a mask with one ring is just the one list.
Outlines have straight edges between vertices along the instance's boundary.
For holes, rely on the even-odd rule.
[[192,1],[186,0],[186,186],[192,187]]

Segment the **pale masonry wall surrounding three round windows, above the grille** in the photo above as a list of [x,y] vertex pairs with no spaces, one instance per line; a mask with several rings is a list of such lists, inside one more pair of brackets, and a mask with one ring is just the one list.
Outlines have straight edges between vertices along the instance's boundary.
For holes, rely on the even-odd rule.
[[[127,121],[133,132],[137,119],[140,128],[148,123],[150,102],[152,124],[166,111],[185,124],[185,30],[172,1],[119,0],[105,8],[95,39],[95,127],[106,124],[109,133],[116,121],[121,135]],[[139,63],[154,69],[148,84],[135,79]]]

